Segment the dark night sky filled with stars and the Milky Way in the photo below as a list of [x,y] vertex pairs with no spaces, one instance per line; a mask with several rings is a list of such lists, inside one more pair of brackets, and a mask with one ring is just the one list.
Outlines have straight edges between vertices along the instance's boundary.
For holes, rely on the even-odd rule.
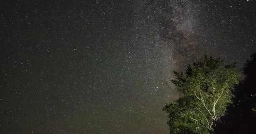
[[4,0],[0,131],[168,134],[173,70],[256,52],[255,0]]

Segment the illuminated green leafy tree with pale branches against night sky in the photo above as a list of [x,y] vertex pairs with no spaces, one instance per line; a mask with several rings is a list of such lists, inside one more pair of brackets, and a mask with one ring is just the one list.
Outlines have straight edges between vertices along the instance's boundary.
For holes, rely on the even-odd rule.
[[213,133],[215,122],[231,102],[232,85],[238,82],[235,64],[224,66],[220,58],[205,56],[202,62],[189,65],[184,74],[174,74],[176,79],[171,82],[184,96],[163,108],[171,133]]

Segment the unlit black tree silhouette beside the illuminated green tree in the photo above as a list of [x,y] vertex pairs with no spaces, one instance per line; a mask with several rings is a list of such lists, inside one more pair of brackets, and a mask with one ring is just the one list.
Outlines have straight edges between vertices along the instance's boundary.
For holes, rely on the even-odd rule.
[[233,90],[233,103],[216,123],[216,134],[256,134],[256,53],[243,67],[245,78]]

